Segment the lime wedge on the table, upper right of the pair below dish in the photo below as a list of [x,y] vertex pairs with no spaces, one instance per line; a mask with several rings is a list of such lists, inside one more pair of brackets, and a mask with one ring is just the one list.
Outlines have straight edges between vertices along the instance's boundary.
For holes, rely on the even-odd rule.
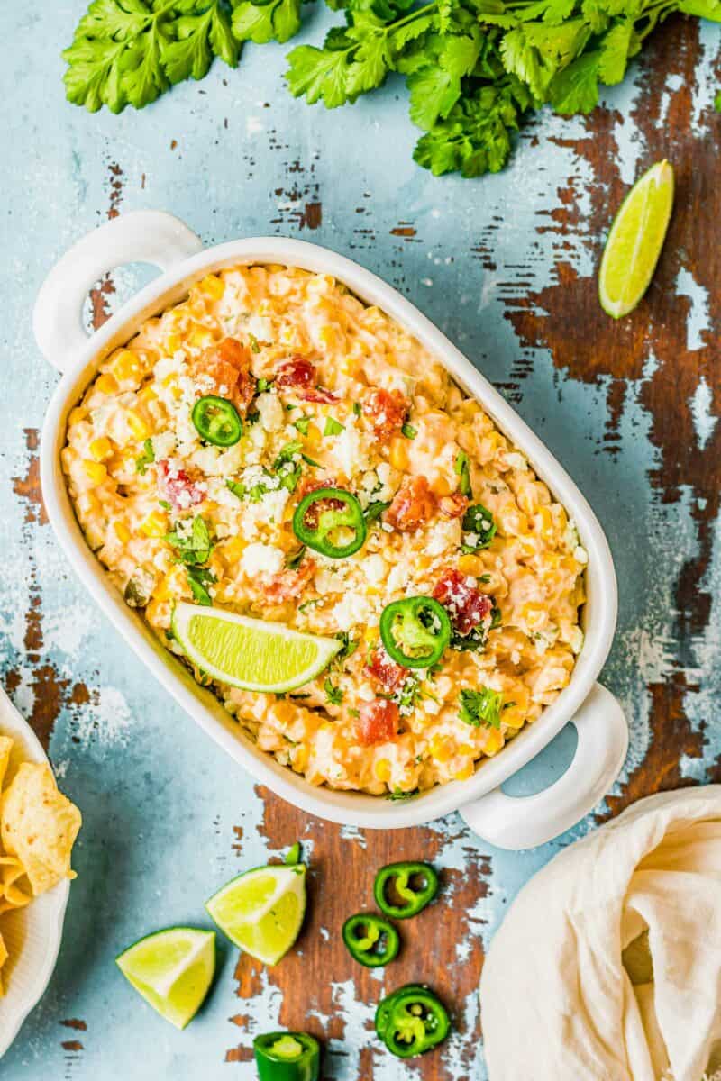
[[205,908],[233,945],[264,964],[277,964],[301,931],[306,866],[256,867],[222,886]]

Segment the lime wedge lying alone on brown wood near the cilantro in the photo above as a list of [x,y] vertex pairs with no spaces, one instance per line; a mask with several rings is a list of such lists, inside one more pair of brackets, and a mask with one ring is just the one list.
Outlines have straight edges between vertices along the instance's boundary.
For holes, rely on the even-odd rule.
[[673,170],[668,161],[657,161],[626,196],[605,243],[599,298],[614,319],[632,311],[649,288],[672,205]]

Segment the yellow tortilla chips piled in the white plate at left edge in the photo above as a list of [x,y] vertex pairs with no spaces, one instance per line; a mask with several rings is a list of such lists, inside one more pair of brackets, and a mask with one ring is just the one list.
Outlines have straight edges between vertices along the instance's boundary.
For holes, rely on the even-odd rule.
[[[12,749],[13,740],[0,736],[0,913],[28,905],[64,878],[75,878],[70,853],[82,822],[44,763],[22,762],[2,787]],[[0,969],[6,960],[0,933]]]

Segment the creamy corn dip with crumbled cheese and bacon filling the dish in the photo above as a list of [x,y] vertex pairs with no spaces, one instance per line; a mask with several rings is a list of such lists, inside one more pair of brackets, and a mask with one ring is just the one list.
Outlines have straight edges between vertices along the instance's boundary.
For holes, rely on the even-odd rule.
[[[244,417],[232,446],[193,426],[209,393]],[[313,785],[401,795],[468,778],[569,682],[587,561],[573,522],[443,366],[333,278],[253,266],[193,285],[101,365],[62,461],[89,545],[174,653],[173,604],[203,593],[344,637],[339,659],[286,696],[212,684]],[[323,483],[365,510],[388,505],[346,559],[301,552],[293,532]],[[484,508],[476,530],[469,505]],[[211,538],[200,575],[177,559],[198,518]],[[417,595],[441,601],[454,637],[432,669],[399,670],[379,617]],[[493,708],[469,713],[464,691]]]

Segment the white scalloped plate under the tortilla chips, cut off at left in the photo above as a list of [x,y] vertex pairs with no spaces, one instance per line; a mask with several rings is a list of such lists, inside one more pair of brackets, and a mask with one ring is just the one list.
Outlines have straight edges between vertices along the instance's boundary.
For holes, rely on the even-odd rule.
[[[35,732],[0,689],[0,735],[15,740],[10,760],[12,777],[21,762],[48,762]],[[0,976],[5,993],[0,998],[0,1057],[50,983],[61,948],[63,920],[70,894],[67,879],[14,911],[0,917],[0,931],[9,958]]]

